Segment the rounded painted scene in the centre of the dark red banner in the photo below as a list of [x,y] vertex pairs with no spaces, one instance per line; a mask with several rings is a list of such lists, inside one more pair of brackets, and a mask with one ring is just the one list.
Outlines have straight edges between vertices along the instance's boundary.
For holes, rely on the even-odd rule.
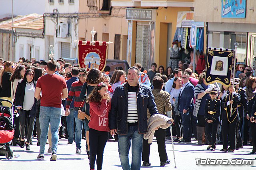
[[92,68],[99,68],[100,65],[100,55],[98,55],[95,52],[90,52],[86,55],[84,58],[84,63],[86,65],[86,68],[92,69]]

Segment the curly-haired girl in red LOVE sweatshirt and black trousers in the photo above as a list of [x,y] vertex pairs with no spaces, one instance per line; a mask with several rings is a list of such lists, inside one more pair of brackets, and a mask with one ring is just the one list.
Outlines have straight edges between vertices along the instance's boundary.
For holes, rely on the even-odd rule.
[[108,113],[111,109],[108,86],[99,83],[89,95],[90,116],[89,144],[90,170],[94,170],[97,155],[97,170],[102,169],[103,152],[108,140]]

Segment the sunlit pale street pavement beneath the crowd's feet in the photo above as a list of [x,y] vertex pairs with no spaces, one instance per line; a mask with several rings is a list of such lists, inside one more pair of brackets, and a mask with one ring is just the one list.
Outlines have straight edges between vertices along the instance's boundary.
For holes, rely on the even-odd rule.
[[[7,160],[4,156],[0,156],[0,170],[89,170],[89,160],[85,152],[85,140],[82,140],[82,154],[76,155],[76,144],[67,144],[68,141],[64,139],[59,140],[57,161],[49,161],[50,154],[45,154],[44,160],[36,160],[39,154],[39,146],[36,146],[36,138],[33,140],[31,150],[26,151],[25,148],[19,146],[11,146],[14,154],[19,154],[20,157]],[[166,148],[168,158],[171,160],[169,165],[160,167],[160,159],[158,156],[158,149],[156,138],[154,138],[150,150],[150,162],[152,166],[141,167],[142,170],[171,170],[174,169],[174,156],[172,152],[171,140],[166,140]],[[177,169],[180,170],[243,170],[256,168],[255,157],[250,155],[252,146],[244,146],[244,148],[236,150],[234,153],[220,152],[222,145],[216,146],[216,151],[206,150],[207,145],[199,146],[196,140],[192,140],[190,144],[180,144],[174,142],[175,158]],[[46,152],[48,144],[46,144]],[[130,152],[131,156],[131,152]],[[196,165],[196,158],[201,159],[243,159],[252,160],[252,165]],[[131,157],[130,157],[131,161]],[[95,165],[96,166],[96,165]],[[122,170],[119,155],[118,142],[109,140],[104,150],[103,170]]]

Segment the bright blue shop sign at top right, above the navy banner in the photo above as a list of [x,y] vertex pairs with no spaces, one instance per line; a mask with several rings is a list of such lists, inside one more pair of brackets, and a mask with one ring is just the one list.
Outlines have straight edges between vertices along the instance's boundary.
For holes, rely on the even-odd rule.
[[222,18],[245,18],[246,0],[222,0]]

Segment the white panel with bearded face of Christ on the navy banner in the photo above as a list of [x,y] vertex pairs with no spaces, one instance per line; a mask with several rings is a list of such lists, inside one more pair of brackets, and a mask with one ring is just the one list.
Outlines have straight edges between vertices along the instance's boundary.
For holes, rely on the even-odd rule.
[[213,56],[210,74],[228,75],[228,57]]

